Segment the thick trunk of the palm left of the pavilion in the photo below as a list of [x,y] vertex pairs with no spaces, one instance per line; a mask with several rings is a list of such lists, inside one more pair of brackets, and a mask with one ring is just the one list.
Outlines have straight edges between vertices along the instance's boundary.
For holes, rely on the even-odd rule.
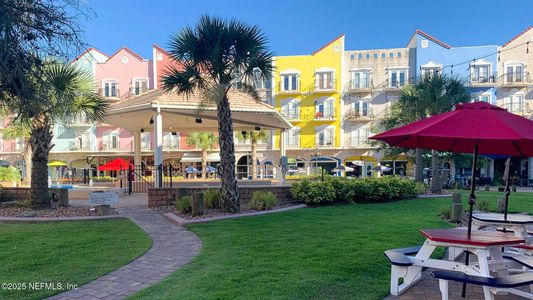
[[50,207],[48,193],[48,153],[52,149],[52,132],[44,117],[33,121],[30,136],[31,153],[31,202],[35,208]]

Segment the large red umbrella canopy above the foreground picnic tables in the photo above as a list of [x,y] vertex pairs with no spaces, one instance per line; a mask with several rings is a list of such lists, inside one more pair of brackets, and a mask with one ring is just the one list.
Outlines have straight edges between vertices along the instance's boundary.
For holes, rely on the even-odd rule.
[[391,146],[455,153],[533,156],[533,121],[485,102],[442,113],[370,137]]

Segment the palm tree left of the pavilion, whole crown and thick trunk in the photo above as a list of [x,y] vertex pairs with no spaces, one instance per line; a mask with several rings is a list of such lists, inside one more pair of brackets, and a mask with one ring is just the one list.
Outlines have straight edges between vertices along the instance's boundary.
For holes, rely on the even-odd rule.
[[32,205],[48,207],[48,155],[54,147],[53,125],[68,123],[84,114],[89,120],[103,121],[107,104],[97,96],[91,75],[57,61],[46,61],[39,70],[36,91],[26,105],[9,107],[29,131],[31,149]]

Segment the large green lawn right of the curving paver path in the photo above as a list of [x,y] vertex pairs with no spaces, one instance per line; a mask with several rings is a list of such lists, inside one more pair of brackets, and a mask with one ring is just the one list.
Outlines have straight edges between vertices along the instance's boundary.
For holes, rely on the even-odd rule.
[[[511,207],[531,209],[532,196],[513,194]],[[200,255],[133,298],[382,299],[390,276],[383,251],[421,244],[420,228],[451,226],[437,216],[450,203],[305,208],[192,225],[204,243]]]

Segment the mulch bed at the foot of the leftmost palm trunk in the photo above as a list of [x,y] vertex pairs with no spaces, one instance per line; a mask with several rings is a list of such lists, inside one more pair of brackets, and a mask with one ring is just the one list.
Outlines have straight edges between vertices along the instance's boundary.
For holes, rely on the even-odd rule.
[[[110,215],[118,215],[118,212],[111,208]],[[20,217],[20,218],[57,218],[57,217],[93,217],[98,216],[95,210],[90,210],[89,206],[69,206],[57,209],[34,210],[30,207],[3,207],[0,208],[0,217]]]

